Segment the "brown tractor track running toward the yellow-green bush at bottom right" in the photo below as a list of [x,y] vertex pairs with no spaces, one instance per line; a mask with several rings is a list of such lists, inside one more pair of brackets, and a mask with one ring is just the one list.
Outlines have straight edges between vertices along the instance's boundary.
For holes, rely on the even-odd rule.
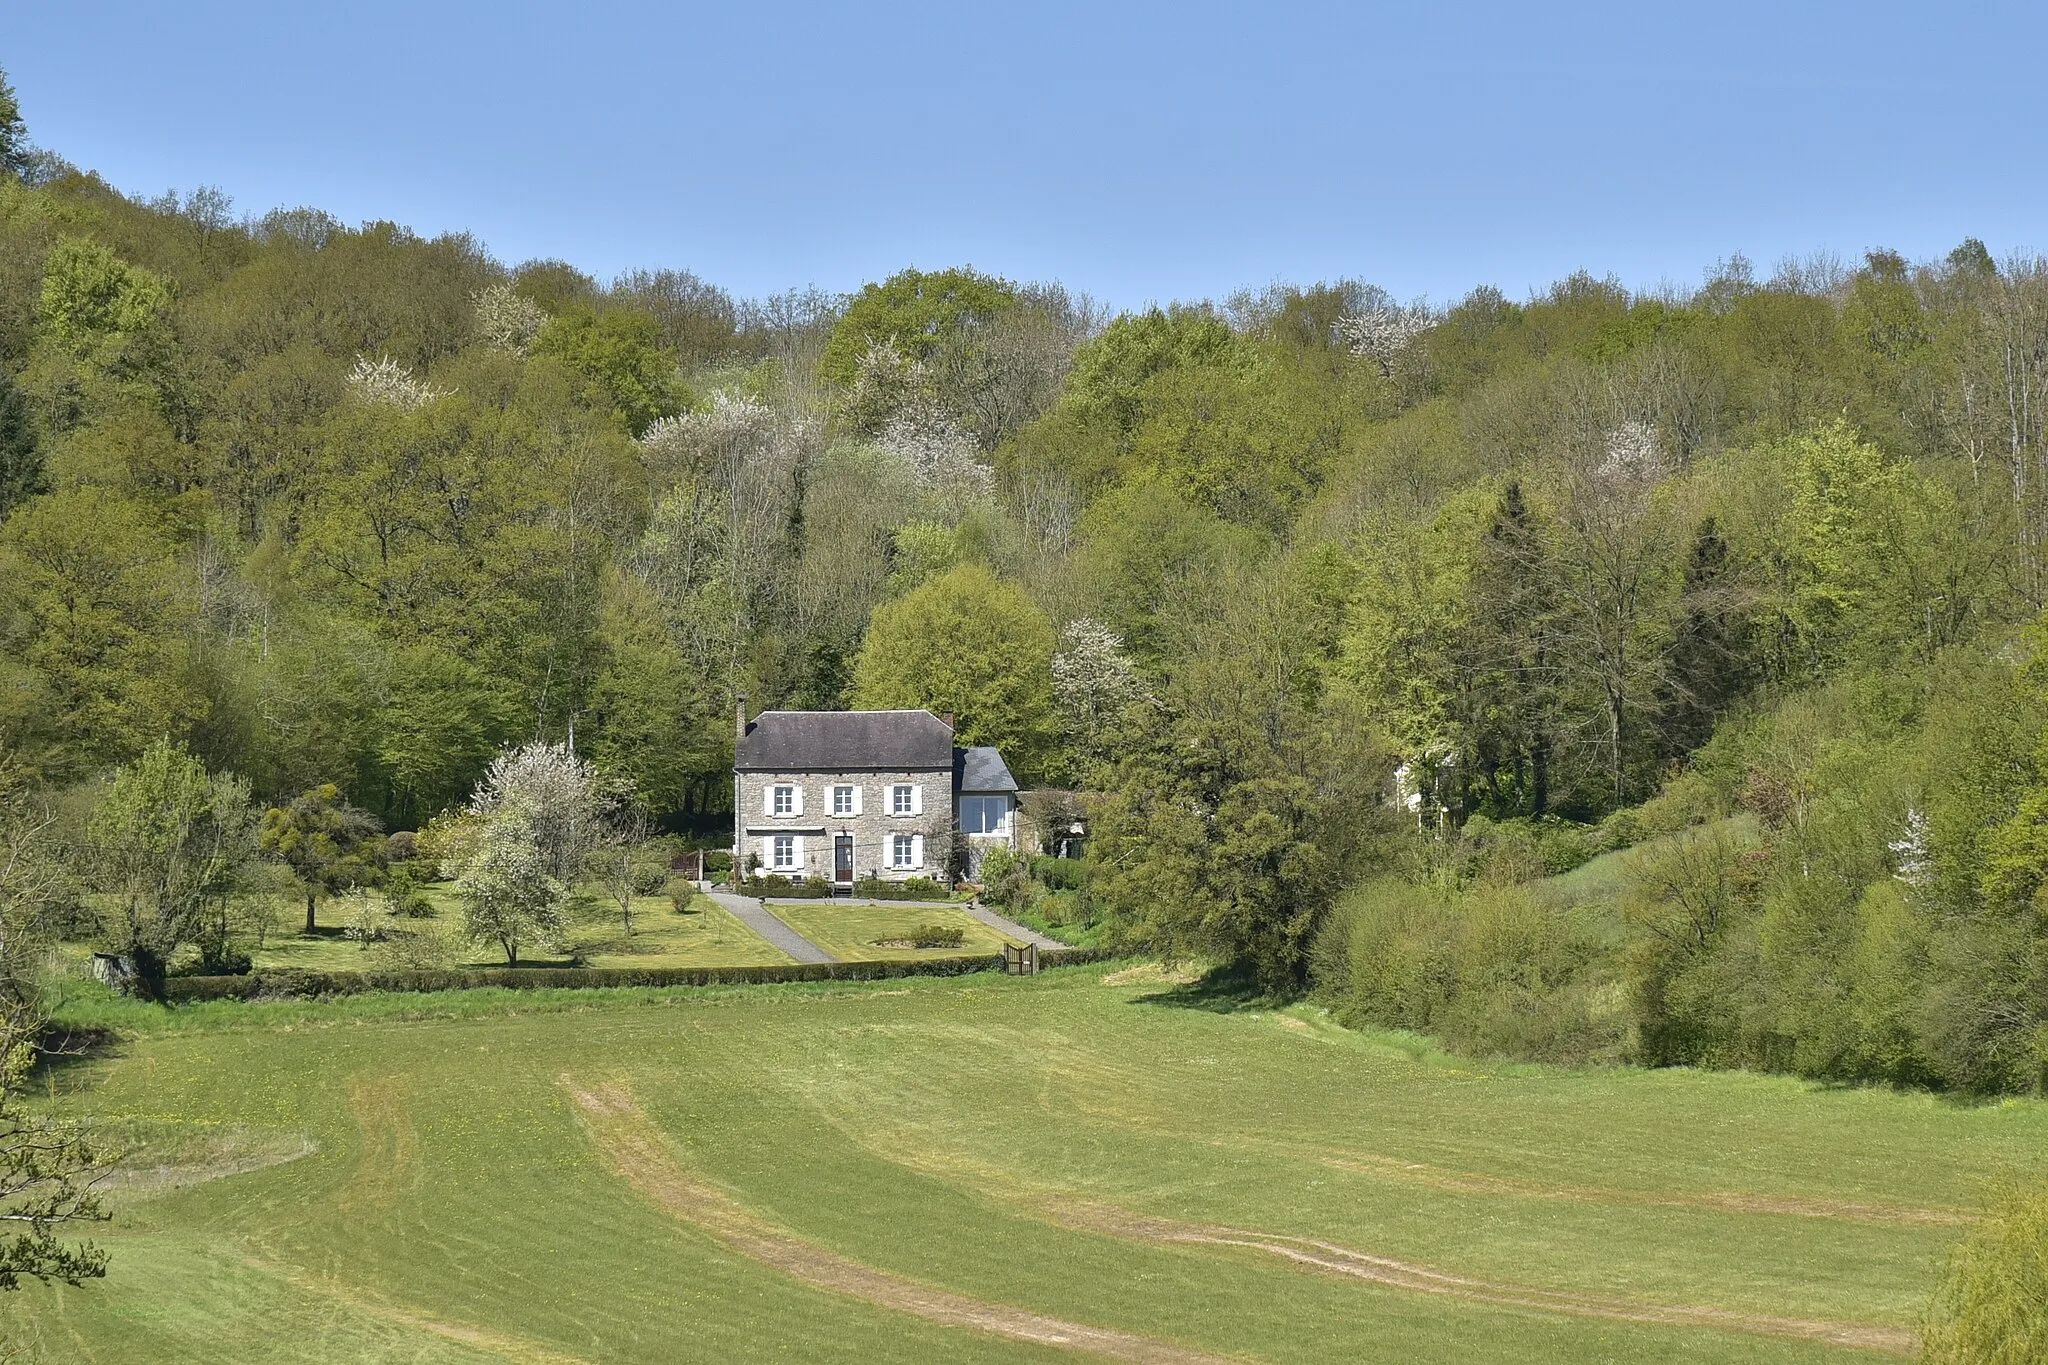
[[1010,1169],[977,1162],[958,1154],[936,1152],[909,1132],[899,1132],[893,1134],[891,1140],[874,1142],[862,1140],[846,1130],[846,1126],[838,1128],[848,1132],[854,1142],[883,1160],[911,1171],[924,1171],[926,1175],[934,1175],[948,1183],[965,1179],[971,1183],[971,1189],[983,1197],[999,1199],[1022,1209],[1030,1218],[1075,1232],[1094,1232],[1128,1242],[1233,1246],[1257,1250],[1280,1257],[1282,1261],[1311,1273],[1368,1281],[1415,1293],[1440,1293],[1497,1308],[1526,1308],[1573,1318],[1606,1318],[1612,1322],[1645,1322],[1653,1326],[1718,1328],[1759,1336],[1812,1340],[1855,1351],[1882,1351],[1888,1355],[1913,1355],[1919,1347],[1919,1336],[1907,1328],[1868,1322],[1786,1318],[1696,1304],[1647,1304],[1602,1293],[1573,1293],[1569,1289],[1540,1289],[1534,1285],[1456,1275],[1452,1271],[1442,1271],[1413,1261],[1397,1261],[1393,1257],[1380,1257],[1376,1252],[1358,1250],[1339,1242],[1325,1242],[1321,1238],[1159,1218],[1116,1203],[1085,1199],[1057,1185],[1020,1181],[1018,1173]]

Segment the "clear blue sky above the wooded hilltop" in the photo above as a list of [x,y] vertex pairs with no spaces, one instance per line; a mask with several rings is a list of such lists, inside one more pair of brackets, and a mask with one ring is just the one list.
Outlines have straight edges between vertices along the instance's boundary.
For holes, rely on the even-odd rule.
[[0,0],[31,135],[123,190],[1116,305],[2048,248],[2044,39],[2038,2]]

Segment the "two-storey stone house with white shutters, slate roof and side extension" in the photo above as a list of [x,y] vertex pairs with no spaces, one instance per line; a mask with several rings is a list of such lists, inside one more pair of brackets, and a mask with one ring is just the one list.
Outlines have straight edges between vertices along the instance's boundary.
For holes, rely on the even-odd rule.
[[954,743],[928,710],[764,710],[739,702],[733,866],[786,878],[950,882],[1016,847],[1001,753]]

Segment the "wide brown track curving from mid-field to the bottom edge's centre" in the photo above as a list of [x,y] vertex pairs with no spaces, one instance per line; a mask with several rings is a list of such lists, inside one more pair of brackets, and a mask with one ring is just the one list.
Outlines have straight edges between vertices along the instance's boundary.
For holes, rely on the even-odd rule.
[[940,1326],[971,1328],[1040,1347],[1135,1365],[1225,1365],[1229,1357],[1178,1347],[1155,1336],[1065,1322],[1008,1304],[938,1289],[864,1265],[770,1224],[725,1193],[696,1181],[676,1160],[662,1130],[621,1085],[586,1087],[561,1078],[598,1148],[618,1175],[664,1214],[698,1228],[741,1257],[817,1289],[909,1314]]

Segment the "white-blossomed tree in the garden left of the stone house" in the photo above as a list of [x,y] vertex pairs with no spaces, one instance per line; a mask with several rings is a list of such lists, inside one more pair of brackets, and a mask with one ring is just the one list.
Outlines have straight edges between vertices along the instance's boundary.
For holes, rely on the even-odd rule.
[[455,878],[469,939],[498,943],[508,964],[520,943],[553,941],[608,808],[596,767],[567,745],[500,753],[469,798],[475,825]]

